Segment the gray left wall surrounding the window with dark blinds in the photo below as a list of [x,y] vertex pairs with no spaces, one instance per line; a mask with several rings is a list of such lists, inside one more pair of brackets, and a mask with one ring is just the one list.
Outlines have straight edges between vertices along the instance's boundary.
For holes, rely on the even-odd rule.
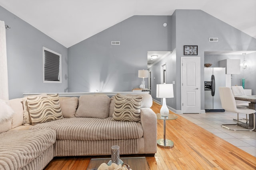
[[[11,27],[6,30],[9,98],[67,90],[68,49],[1,6],[0,20]],[[62,83],[43,83],[43,46],[62,55]]]

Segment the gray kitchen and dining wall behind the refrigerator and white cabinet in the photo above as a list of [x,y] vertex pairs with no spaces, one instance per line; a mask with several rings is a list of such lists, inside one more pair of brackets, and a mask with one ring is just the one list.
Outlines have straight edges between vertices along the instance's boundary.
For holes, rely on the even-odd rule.
[[[218,67],[219,61],[224,59],[240,59],[244,61],[244,56],[241,55],[204,55],[204,63],[212,63],[211,67]],[[256,95],[256,53],[245,55],[247,68],[241,68],[241,74],[232,74],[231,86],[242,86],[242,78],[245,78],[245,89],[252,89],[252,95]]]

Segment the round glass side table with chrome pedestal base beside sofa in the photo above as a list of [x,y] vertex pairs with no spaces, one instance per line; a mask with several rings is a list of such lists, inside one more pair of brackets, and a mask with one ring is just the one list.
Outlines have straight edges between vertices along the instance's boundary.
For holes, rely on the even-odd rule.
[[161,116],[160,113],[157,113],[156,118],[160,119],[160,120],[164,120],[164,139],[158,139],[157,146],[162,147],[162,148],[172,148],[174,146],[174,143],[171,140],[165,138],[165,121],[177,119],[178,116],[173,115],[173,114],[169,114],[168,116]]

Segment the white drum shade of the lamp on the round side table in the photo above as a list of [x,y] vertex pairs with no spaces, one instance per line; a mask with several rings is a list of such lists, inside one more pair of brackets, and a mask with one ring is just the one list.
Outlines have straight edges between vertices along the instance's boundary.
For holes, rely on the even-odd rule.
[[173,85],[172,84],[156,84],[156,97],[157,98],[173,98]]

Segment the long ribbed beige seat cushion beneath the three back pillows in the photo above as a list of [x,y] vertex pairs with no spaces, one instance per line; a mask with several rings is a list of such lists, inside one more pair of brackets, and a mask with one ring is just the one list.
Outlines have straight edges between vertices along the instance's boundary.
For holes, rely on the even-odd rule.
[[117,140],[139,139],[143,136],[142,125],[137,122],[112,121],[89,117],[70,117],[32,126],[30,129],[54,129],[58,140]]

